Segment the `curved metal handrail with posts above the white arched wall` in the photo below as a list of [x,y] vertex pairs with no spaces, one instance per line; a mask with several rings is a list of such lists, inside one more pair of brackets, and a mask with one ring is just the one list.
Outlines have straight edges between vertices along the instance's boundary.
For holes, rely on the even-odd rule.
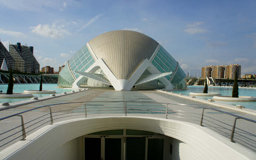
[[[106,103],[116,103],[116,102],[124,102],[125,103],[125,106],[124,107],[86,107],[86,103],[87,103],[87,105],[88,105],[88,103],[96,103],[96,102],[106,102]],[[23,116],[21,115],[21,114],[23,114],[23,113],[26,113],[26,112],[29,112],[29,111],[32,111],[32,110],[36,110],[36,109],[39,109],[39,108],[43,108],[43,107],[49,107],[49,113],[48,114],[45,114],[45,115],[43,115],[43,116],[46,116],[46,115],[50,115],[50,121],[47,121],[47,122],[51,122],[50,124],[53,124],[53,117],[54,116],[60,116],[60,115],[65,115],[65,114],[70,114],[70,113],[65,113],[65,114],[59,114],[59,115],[54,115],[54,116],[52,116],[52,113],[57,113],[57,112],[61,112],[61,111],[69,111],[69,110],[76,110],[76,109],[69,109],[69,110],[61,110],[61,111],[55,111],[55,112],[52,112],[52,106],[56,106],[56,105],[62,105],[62,104],[73,104],[73,103],[84,103],[84,106],[85,106],[85,118],[87,118],[87,115],[88,114],[98,114],[98,113],[88,113],[88,112],[90,112],[90,111],[121,111],[121,109],[112,109],[112,110],[104,110],[104,108],[124,108],[124,113],[125,113],[125,116],[127,116],[127,108],[136,108],[136,107],[127,107],[127,103],[152,103],[152,104],[166,104],[166,109],[165,108],[163,108],[163,107],[160,107],[160,106],[155,106],[154,108],[153,107],[148,107],[148,108],[146,108],[146,107],[142,107],[142,108],[139,108],[139,109],[162,109],[163,111],[152,111],[152,110],[140,110],[140,112],[148,112],[148,111],[150,111],[150,112],[161,112],[161,113],[165,113],[165,118],[167,118],[167,116],[168,116],[168,110],[170,110],[169,108],[168,108],[168,105],[181,105],[181,106],[189,106],[189,107],[197,107],[197,108],[203,108],[203,111],[202,111],[202,115],[201,115],[201,120],[200,120],[200,125],[201,126],[203,126],[203,118],[204,118],[204,109],[210,109],[210,110],[214,110],[214,111],[217,111],[217,112],[221,112],[221,113],[224,113],[224,114],[226,114],[226,115],[230,115],[230,116],[234,116],[235,117],[235,120],[234,120],[234,124],[233,124],[233,128],[232,128],[232,132],[231,132],[231,136],[230,136],[230,140],[232,141],[232,142],[234,142],[234,140],[233,140],[233,138],[234,138],[234,132],[235,132],[235,128],[236,128],[236,120],[237,119],[244,119],[244,120],[247,120],[247,121],[250,121],[250,122],[253,122],[253,123],[256,123],[256,121],[255,120],[252,120],[252,119],[249,119],[249,118],[245,118],[245,117],[242,117],[242,116],[238,116],[238,115],[235,115],[235,114],[232,114],[232,113],[228,113],[228,112],[225,112],[225,111],[222,111],[222,110],[219,110],[219,109],[215,109],[215,108],[209,108],[209,107],[202,107],[202,106],[195,106],[195,105],[188,105],[188,104],[179,104],[179,103],[164,103],[164,102],[146,102],[146,101],[80,101],[80,102],[68,102],[68,103],[57,103],[57,104],[49,104],[49,105],[44,105],[44,106],[40,106],[40,107],[36,107],[36,108],[32,108],[32,109],[29,109],[29,110],[26,110],[26,111],[22,111],[22,112],[20,112],[20,113],[16,113],[16,114],[13,114],[13,115],[10,115],[10,116],[6,116],[6,117],[3,117],[3,118],[0,118],[0,121],[1,120],[4,120],[4,119],[7,119],[7,118],[10,118],[10,117],[13,117],[13,116],[20,116],[21,117],[21,127],[22,127],[22,140],[25,140],[25,138],[26,138],[26,132],[25,132],[25,126],[24,126],[24,121],[23,121]],[[138,107],[137,107],[138,108]],[[97,109],[97,110],[87,110],[87,109]],[[99,110],[98,110],[99,109]],[[170,111],[173,111],[173,110],[170,110]],[[136,112],[136,110],[132,110],[132,111],[129,111],[129,112]],[[139,111],[138,111],[139,112]],[[108,112],[109,113],[109,112]],[[114,112],[114,113],[117,113],[117,112]],[[123,113],[123,112],[122,112]],[[80,114],[81,115],[81,114]],[[43,116],[40,116],[40,117],[43,117]],[[77,116],[77,115],[74,115],[74,116]],[[36,119],[38,119],[38,118],[40,118],[40,117],[37,117]],[[55,118],[55,119],[59,119],[59,118],[63,118],[63,117],[58,117],[58,118]],[[33,120],[31,120],[31,121],[29,121],[29,122],[32,122],[32,121],[34,121],[34,120],[36,120],[36,119],[33,119]],[[47,118],[44,118],[43,120],[45,120],[45,119],[47,119]],[[43,120],[41,120],[41,121],[43,121]],[[39,121],[39,122],[41,122],[41,121]],[[29,123],[29,122],[27,122],[27,123]],[[45,123],[47,123],[47,122],[44,122],[43,124],[45,124]],[[25,124],[27,124],[27,123],[25,123]],[[37,122],[38,123],[38,122]],[[35,124],[37,124],[37,123],[35,123]],[[41,124],[41,125],[43,125],[43,124]],[[32,125],[34,125],[34,124],[32,124]],[[32,125],[30,125],[30,126],[32,126]],[[41,126],[41,125],[39,125],[39,126]],[[20,126],[17,126],[17,127],[20,127]],[[28,127],[30,127],[30,126],[28,126]],[[39,126],[37,126],[37,127],[39,127]],[[15,128],[17,128],[17,127],[15,127]],[[27,127],[27,128],[28,128]],[[36,127],[36,128],[37,128]],[[15,129],[15,128],[13,128],[13,129]],[[7,132],[9,132],[9,131],[12,131],[13,129],[10,129],[10,130],[8,130],[8,131],[6,131],[6,132],[4,132],[4,133],[7,133]],[[34,128],[35,129],[35,128]],[[32,131],[32,130],[34,130],[34,129],[31,129],[30,131]],[[28,131],[28,132],[30,132],[30,131]],[[20,132],[20,131],[19,131]],[[0,135],[2,135],[2,134],[4,134],[4,133],[1,133]],[[16,132],[16,133],[18,133],[18,132]],[[16,134],[15,133],[15,134]],[[10,136],[8,136],[8,137],[10,137]],[[6,137],[6,138],[8,138],[8,137]],[[6,138],[4,138],[4,139],[6,139]],[[4,140],[4,139],[2,139],[2,140]],[[17,138],[15,138],[15,139],[17,139]],[[0,141],[2,141],[2,140],[0,140]],[[12,140],[11,140],[12,141]],[[11,141],[9,141],[9,142],[11,142]],[[9,143],[9,142],[7,142],[7,143]],[[5,143],[5,144],[7,144],[7,143]],[[4,145],[5,145],[4,144]],[[2,146],[4,146],[4,145],[2,145]],[[0,146],[0,147],[2,147],[2,146]]]

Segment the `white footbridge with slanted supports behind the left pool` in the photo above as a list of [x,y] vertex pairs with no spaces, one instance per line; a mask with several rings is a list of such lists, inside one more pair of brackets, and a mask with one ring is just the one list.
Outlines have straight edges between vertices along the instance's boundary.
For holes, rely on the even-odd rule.
[[[10,73],[0,71],[0,84],[8,84]],[[57,83],[59,74],[43,74],[43,83]],[[21,83],[40,83],[40,74],[30,74],[30,73],[21,73],[13,72],[13,82],[15,84]]]

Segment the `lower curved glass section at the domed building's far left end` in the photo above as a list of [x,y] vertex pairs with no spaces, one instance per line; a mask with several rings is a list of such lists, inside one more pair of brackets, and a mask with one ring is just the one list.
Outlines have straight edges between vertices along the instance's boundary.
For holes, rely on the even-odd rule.
[[68,65],[66,65],[60,71],[58,86],[71,88],[74,82],[75,82],[75,78],[73,77],[71,71],[69,70]]

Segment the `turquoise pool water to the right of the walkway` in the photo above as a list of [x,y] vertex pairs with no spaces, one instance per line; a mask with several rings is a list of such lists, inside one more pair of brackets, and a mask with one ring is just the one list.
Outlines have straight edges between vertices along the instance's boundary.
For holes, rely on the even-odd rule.
[[[188,86],[187,90],[182,91],[172,91],[174,93],[182,93],[183,95],[189,95],[190,92],[203,92],[204,86]],[[212,87],[208,86],[208,92],[218,92],[221,93],[221,95],[232,95],[232,87]],[[240,96],[253,96],[256,97],[256,89],[249,89],[249,88],[239,88],[238,90]],[[202,97],[202,96],[196,96],[196,98],[201,99],[212,99],[213,96],[210,97]],[[230,105],[243,105],[245,108],[250,109],[256,109],[256,102],[225,102],[225,101],[217,101],[220,103],[230,104]]]

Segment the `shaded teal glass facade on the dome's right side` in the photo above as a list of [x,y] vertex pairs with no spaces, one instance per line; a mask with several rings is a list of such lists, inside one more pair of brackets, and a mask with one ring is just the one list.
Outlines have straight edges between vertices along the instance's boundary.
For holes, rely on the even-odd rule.
[[[174,58],[162,46],[160,46],[159,50],[156,53],[156,56],[151,62],[162,73],[173,72],[172,75],[165,76],[169,81],[171,81],[173,88],[181,89],[186,87],[186,74],[180,68],[180,65],[177,68],[178,62],[174,60]],[[174,75],[176,68],[177,71]],[[174,77],[172,78],[173,75]]]

